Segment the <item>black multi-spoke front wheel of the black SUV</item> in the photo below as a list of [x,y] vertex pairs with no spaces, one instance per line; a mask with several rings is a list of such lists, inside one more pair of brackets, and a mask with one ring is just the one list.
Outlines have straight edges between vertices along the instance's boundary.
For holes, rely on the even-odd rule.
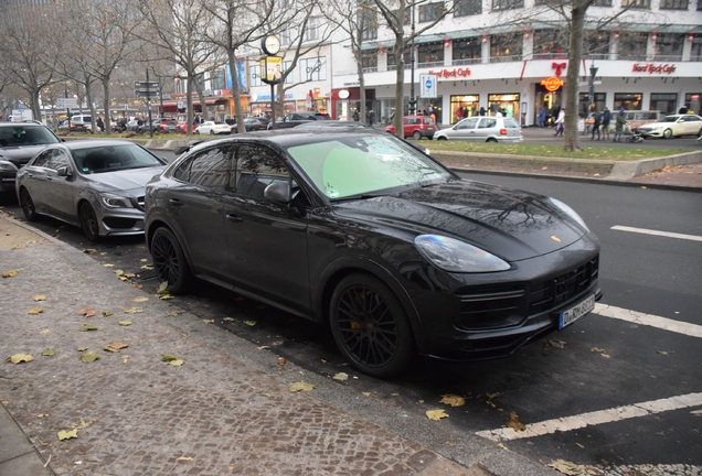
[[413,336],[395,294],[377,278],[350,274],[334,289],[331,332],[351,365],[377,378],[400,374],[413,354]]

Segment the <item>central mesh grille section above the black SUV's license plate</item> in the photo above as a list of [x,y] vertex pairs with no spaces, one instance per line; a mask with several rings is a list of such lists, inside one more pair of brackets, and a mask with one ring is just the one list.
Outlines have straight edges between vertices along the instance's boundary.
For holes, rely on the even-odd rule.
[[543,282],[530,295],[531,314],[550,311],[587,290],[599,273],[599,256],[582,267]]

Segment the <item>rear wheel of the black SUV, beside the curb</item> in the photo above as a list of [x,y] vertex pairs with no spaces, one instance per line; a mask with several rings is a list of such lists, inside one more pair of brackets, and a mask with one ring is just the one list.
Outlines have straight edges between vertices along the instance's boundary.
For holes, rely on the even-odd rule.
[[182,294],[190,284],[192,274],[183,248],[168,228],[161,227],[153,232],[151,257],[159,281],[167,282],[172,294]]

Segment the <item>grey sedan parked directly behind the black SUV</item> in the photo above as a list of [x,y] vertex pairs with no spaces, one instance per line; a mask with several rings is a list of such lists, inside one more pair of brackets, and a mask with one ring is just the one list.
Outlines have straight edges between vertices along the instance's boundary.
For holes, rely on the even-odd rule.
[[55,143],[17,174],[24,217],[59,218],[97,241],[143,232],[143,187],[166,161],[120,140]]

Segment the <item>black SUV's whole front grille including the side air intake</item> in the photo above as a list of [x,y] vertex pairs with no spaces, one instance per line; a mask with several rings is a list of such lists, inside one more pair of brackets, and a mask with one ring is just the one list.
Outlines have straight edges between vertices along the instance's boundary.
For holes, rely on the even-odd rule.
[[460,328],[488,331],[519,325],[528,316],[553,311],[585,292],[597,280],[599,256],[556,278],[523,285],[478,286],[461,289]]

